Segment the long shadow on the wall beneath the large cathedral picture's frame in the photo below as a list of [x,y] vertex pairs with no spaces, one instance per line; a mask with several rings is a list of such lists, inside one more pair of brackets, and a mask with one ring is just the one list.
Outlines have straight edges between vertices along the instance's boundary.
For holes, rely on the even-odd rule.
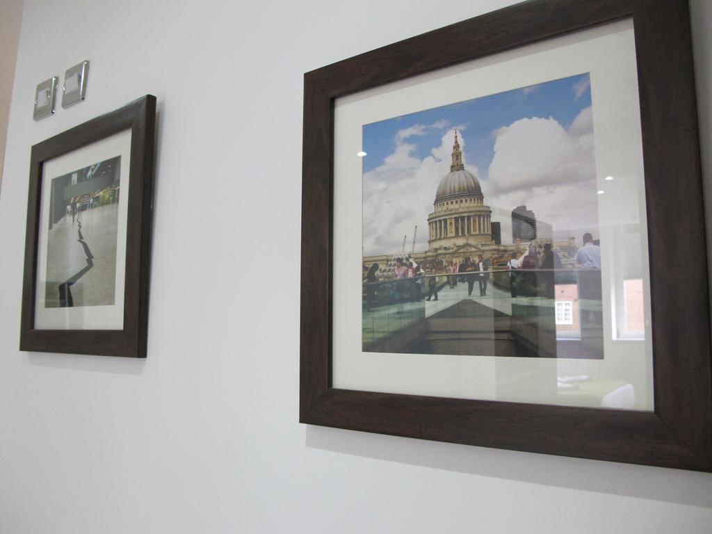
[[[306,426],[306,446],[352,456],[712,508],[712,475]],[[681,491],[685,488],[685,491]]]

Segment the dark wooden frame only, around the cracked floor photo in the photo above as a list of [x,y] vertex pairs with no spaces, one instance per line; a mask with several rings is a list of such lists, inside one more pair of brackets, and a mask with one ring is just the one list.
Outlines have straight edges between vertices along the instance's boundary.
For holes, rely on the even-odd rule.
[[[151,258],[156,98],[146,95],[120,109],[32,147],[22,290],[20,350],[146,357]],[[125,130],[131,131],[122,330],[35,328],[36,277],[43,164]]]

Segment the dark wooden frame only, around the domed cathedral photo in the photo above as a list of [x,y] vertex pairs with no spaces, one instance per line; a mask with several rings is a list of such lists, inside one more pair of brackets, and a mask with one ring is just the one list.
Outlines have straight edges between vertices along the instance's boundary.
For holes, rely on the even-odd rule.
[[[634,23],[639,79],[654,412],[332,387],[335,99],[626,18]],[[708,271],[689,26],[684,0],[532,0],[305,74],[300,422],[712,471]]]

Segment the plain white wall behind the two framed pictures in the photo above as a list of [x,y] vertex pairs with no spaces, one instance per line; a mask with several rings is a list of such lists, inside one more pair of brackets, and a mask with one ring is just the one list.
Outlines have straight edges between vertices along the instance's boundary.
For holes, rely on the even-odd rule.
[[[297,422],[302,74],[510,1],[26,1],[0,197],[0,533],[710,528],[704,473]],[[709,141],[712,6],[693,4]],[[38,81],[83,59],[85,103],[33,122]],[[144,93],[149,356],[19,352],[30,147]]]

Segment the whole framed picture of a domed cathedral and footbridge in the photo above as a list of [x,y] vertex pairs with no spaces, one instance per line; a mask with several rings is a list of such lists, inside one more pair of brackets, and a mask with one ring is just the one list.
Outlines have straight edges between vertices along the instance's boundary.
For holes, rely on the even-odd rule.
[[305,74],[300,422],[710,471],[694,97],[686,1]]

